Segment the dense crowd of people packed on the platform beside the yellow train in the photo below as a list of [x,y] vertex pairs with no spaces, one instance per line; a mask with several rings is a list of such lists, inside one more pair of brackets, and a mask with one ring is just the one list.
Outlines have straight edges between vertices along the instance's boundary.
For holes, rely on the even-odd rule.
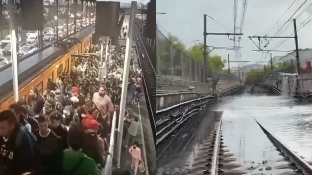
[[[94,45],[89,52],[99,50]],[[2,111],[0,174],[100,174],[110,154],[112,116],[119,111],[124,50],[120,45],[113,48],[105,79],[98,78],[98,57],[77,57],[70,72],[65,69],[55,82],[48,79],[47,89],[33,88],[27,99]],[[128,103],[139,102],[141,88],[140,73],[131,69]],[[129,148],[136,174],[142,161],[134,139],[139,123],[129,108],[124,124],[124,146]]]

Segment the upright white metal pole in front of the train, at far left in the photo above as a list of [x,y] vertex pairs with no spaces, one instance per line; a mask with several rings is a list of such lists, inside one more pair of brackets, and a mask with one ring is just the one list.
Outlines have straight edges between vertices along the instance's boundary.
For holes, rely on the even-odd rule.
[[17,43],[16,31],[14,26],[14,0],[9,0],[9,15],[10,15],[10,35],[11,35],[11,59],[12,59],[12,78],[13,78],[13,97],[14,102],[18,102],[18,73],[17,73]]

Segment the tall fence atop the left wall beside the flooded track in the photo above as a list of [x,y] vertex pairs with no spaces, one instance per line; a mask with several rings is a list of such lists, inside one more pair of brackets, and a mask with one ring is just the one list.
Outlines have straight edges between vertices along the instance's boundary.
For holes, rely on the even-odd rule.
[[[170,79],[190,82],[207,82],[219,78],[230,81],[239,78],[232,74],[217,72],[199,63],[185,51],[176,48],[173,43],[158,29],[156,30],[156,75]],[[206,72],[207,80],[204,80]]]

